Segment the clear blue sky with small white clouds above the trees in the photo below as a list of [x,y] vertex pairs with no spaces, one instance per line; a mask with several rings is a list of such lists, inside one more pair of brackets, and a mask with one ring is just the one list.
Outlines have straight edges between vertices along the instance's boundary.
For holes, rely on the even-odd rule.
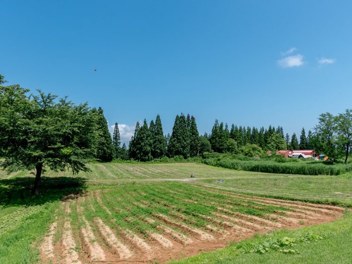
[[[309,2],[309,3],[308,3]],[[1,1],[0,73],[101,106],[128,141],[177,114],[199,132],[281,125],[300,134],[351,108],[350,1]],[[97,69],[97,71],[94,71]]]

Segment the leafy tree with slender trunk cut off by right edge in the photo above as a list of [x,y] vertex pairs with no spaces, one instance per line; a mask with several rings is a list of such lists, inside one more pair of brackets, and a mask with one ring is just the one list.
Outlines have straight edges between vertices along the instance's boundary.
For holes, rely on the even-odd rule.
[[336,116],[338,143],[345,149],[344,163],[347,163],[348,153],[352,143],[352,109],[346,109],[343,114]]

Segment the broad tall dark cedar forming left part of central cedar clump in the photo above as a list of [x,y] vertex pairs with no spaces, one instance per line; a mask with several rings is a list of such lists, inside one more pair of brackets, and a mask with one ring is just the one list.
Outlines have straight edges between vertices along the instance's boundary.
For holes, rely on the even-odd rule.
[[190,156],[190,130],[184,114],[177,115],[175,118],[167,151],[170,157],[181,155],[188,158]]

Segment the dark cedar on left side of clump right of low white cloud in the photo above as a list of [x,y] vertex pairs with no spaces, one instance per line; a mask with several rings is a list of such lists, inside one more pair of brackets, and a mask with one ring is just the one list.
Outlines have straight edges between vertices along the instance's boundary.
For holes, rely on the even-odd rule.
[[151,156],[151,132],[147,121],[144,119],[143,126],[140,127],[135,138],[136,159],[139,161],[149,161]]

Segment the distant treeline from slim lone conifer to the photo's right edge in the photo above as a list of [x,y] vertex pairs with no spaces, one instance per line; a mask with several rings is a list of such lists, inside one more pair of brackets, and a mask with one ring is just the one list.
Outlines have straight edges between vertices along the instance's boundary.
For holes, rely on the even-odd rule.
[[345,157],[347,161],[352,141],[352,110],[344,114],[333,116],[329,113],[321,114],[319,122],[314,128],[301,130],[298,139],[295,133],[290,136],[284,133],[283,127],[269,126],[269,128],[244,127],[215,120],[211,134],[199,135],[194,116],[177,115],[172,133],[163,135],[160,116],[148,126],[136,124],[129,149],[124,144],[120,148],[120,134],[117,123],[113,136],[113,157],[120,159],[135,159],[149,161],[163,156],[183,158],[203,156],[205,152],[243,154],[260,157],[266,151],[275,153],[276,150],[312,149],[320,154],[327,154],[330,158]]

